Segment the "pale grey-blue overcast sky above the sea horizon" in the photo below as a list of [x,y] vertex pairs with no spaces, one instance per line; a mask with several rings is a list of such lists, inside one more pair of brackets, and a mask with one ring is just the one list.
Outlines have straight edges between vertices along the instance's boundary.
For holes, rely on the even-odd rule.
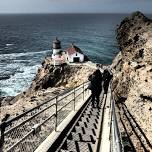
[[0,0],[0,13],[152,13],[152,0]]

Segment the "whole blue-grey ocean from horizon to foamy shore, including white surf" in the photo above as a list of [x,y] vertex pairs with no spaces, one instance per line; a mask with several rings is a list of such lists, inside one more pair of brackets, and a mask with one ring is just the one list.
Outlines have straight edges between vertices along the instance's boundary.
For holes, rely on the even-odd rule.
[[111,64],[118,53],[115,29],[125,14],[0,15],[0,96],[14,96],[31,84],[58,37],[74,42],[93,62]]

